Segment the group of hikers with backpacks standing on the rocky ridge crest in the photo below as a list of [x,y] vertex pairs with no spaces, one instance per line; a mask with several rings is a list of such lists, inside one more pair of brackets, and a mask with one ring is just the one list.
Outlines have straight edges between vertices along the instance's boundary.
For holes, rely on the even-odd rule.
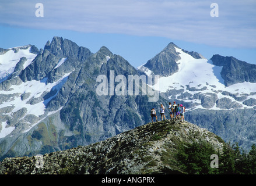
[[[164,115],[164,113],[165,113],[165,108],[164,108],[163,104],[161,104],[160,105],[160,115],[161,115],[162,121],[163,121],[163,119],[166,120],[166,116]],[[176,105],[175,101],[173,102],[173,104],[171,104],[171,102],[169,102],[169,114],[170,114],[171,120],[181,120],[182,122],[184,122],[185,121],[184,113],[185,113],[185,107],[182,104]],[[156,121],[158,121],[155,108],[151,109],[150,116],[152,119],[152,123],[153,123],[153,117],[156,117]]]

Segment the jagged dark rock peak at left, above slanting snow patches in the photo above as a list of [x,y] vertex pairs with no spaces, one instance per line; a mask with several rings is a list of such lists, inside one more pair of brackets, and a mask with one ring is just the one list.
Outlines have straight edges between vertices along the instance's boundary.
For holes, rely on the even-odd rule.
[[[43,52],[38,53],[33,63],[20,73],[20,78],[24,82],[42,80],[44,77],[48,77],[49,73],[52,73],[60,59],[69,58],[72,62],[68,63],[69,69],[66,70],[72,70],[79,67],[80,63],[90,55],[92,53],[89,49],[78,47],[75,42],[70,40],[54,37],[52,42],[48,41],[45,44]],[[54,72],[58,70],[54,70]]]

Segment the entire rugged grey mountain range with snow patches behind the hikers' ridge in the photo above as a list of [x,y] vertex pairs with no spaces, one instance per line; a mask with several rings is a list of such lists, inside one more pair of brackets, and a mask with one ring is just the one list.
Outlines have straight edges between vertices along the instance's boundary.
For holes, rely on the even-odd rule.
[[[156,86],[147,85],[159,99],[149,102],[148,92],[97,94],[97,77],[110,80],[111,71],[127,80],[159,75]],[[149,123],[151,108],[173,101],[185,106],[185,120],[249,149],[256,142],[255,71],[256,65],[239,59],[208,60],[172,42],[137,68],[106,47],[92,53],[61,37],[44,49],[0,49],[0,159],[106,140]]]

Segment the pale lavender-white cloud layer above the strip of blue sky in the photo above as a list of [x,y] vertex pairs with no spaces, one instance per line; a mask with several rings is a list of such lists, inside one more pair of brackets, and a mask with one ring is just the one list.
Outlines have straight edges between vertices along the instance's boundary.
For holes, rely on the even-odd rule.
[[1,2],[0,24],[94,33],[168,37],[218,47],[256,47],[255,1],[76,0],[41,1],[44,17],[34,15],[37,1]]

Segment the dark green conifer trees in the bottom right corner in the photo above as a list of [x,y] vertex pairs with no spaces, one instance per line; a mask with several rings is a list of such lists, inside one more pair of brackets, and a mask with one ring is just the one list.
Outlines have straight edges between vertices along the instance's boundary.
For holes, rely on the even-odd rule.
[[[211,155],[219,158],[219,167],[212,168]],[[256,146],[249,153],[242,151],[239,146],[227,144],[223,152],[217,152],[203,141],[179,145],[176,153],[180,169],[188,174],[256,174]]]

